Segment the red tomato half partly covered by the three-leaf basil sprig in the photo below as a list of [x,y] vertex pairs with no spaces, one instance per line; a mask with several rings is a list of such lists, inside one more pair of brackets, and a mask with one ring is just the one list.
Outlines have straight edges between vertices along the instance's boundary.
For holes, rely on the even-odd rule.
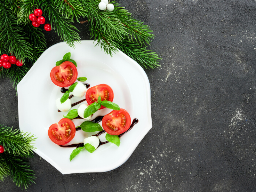
[[[114,92],[106,84],[99,84],[94,87],[89,88],[86,91],[85,98],[88,103],[88,105],[91,105],[92,103],[95,103],[98,101],[98,97],[100,96],[101,100],[108,100],[113,101],[114,99]],[[104,109],[105,107],[101,106],[100,109]]]

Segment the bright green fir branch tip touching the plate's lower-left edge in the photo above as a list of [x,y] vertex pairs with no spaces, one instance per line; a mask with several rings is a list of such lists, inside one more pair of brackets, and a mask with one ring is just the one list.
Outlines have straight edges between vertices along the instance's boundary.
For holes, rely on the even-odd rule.
[[20,130],[0,125],[0,144],[4,146],[4,151],[9,154],[22,157],[31,156],[33,149],[36,149],[33,142],[36,140],[34,135],[23,133]]

